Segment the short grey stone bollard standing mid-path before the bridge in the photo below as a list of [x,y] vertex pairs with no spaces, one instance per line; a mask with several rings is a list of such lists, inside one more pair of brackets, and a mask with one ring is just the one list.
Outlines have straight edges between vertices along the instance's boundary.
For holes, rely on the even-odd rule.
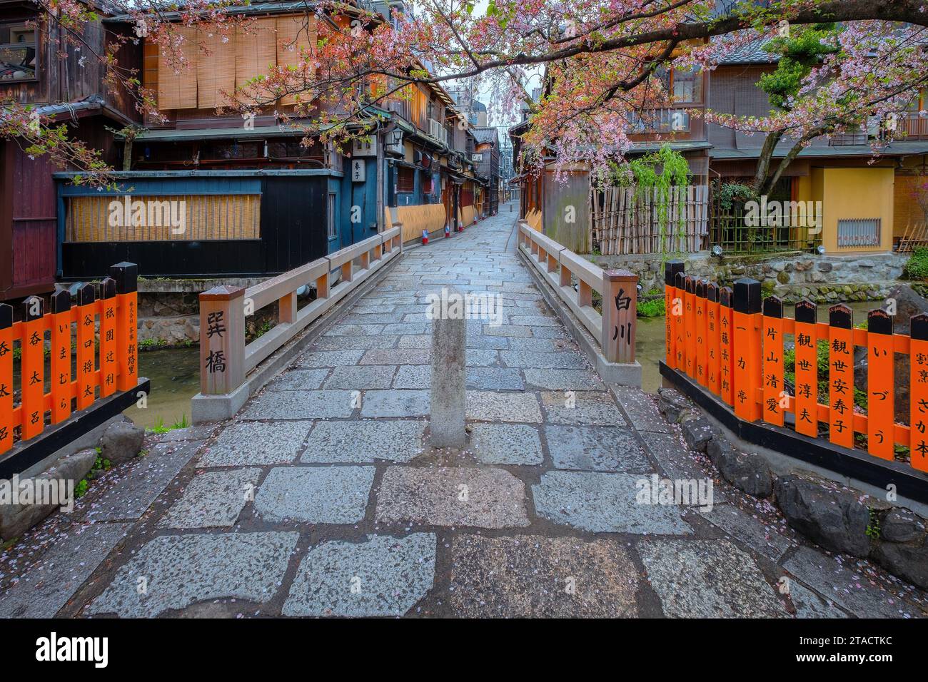
[[432,295],[432,395],[429,423],[433,447],[462,447],[467,377],[464,296],[454,287]]

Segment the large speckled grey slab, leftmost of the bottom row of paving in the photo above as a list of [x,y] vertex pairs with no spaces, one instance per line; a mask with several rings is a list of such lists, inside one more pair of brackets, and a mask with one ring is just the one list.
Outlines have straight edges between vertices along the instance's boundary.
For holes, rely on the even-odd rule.
[[[264,602],[277,592],[297,533],[161,535],[116,573],[88,614],[150,618],[207,599]],[[147,578],[139,594],[138,578]]]

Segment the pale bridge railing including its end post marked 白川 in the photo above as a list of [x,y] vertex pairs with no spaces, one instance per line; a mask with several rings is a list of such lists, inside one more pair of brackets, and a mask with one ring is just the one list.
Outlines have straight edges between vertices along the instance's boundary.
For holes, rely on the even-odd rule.
[[[625,270],[603,270],[532,229],[523,220],[519,221],[519,247],[593,338],[599,341],[607,361],[635,362],[637,275]],[[574,278],[577,280],[575,290]],[[594,291],[602,300],[601,315],[593,306]]]

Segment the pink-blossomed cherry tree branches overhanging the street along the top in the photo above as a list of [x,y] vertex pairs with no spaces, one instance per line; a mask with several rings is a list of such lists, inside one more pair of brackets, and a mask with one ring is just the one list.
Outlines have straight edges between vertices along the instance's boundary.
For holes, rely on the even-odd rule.
[[[135,35],[93,58],[105,65],[108,83],[128,86],[139,111],[157,117],[154,94],[116,58],[121,41],[144,37],[183,72],[190,55],[207,51],[214,36],[253,30],[248,14],[235,11],[247,2],[192,0],[177,8],[115,0],[110,11],[129,15]],[[80,0],[37,4],[43,20],[56,23],[74,44],[94,16]],[[831,127],[834,102],[868,115],[899,109],[928,73],[921,46],[926,5],[928,0],[489,0],[478,8],[475,0],[418,0],[392,22],[363,6],[320,0],[301,6],[307,22],[317,19],[316,45],[304,47],[295,66],[269,69],[226,95],[243,113],[276,111],[281,97],[296,96],[290,118],[307,134],[325,130],[338,141],[363,133],[370,107],[406,97],[410,84],[473,79],[493,92],[497,111],[528,107],[533,125],[523,143],[537,158],[553,152],[561,164],[591,161],[603,169],[630,147],[636,117],[668,100],[659,69],[712,69],[729,51],[776,36],[784,25],[840,21],[845,28],[836,38],[838,49],[808,71],[788,110],[756,120],[710,114],[714,122],[757,133],[782,129],[803,140],[846,128],[848,122]],[[181,27],[195,29],[196,37]],[[529,91],[538,78],[542,96],[535,100]],[[0,99],[0,111],[0,135],[25,140],[35,153],[61,163],[102,170],[93,150],[52,135],[27,107]]]

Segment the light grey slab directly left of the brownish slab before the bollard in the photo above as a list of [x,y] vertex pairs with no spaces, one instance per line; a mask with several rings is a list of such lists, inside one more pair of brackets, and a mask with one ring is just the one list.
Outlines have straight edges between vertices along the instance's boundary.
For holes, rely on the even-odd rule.
[[356,523],[364,518],[373,467],[278,467],[254,498],[264,521]]

